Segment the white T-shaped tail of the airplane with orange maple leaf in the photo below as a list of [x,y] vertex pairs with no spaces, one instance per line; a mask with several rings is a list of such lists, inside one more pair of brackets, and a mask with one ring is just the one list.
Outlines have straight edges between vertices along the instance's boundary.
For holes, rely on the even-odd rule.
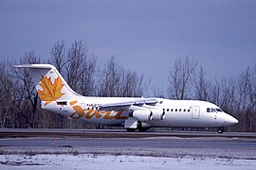
[[24,64],[14,65],[14,67],[28,69],[42,101],[42,106],[46,106],[57,100],[70,100],[79,95],[68,86],[64,77],[61,76],[53,65]]

